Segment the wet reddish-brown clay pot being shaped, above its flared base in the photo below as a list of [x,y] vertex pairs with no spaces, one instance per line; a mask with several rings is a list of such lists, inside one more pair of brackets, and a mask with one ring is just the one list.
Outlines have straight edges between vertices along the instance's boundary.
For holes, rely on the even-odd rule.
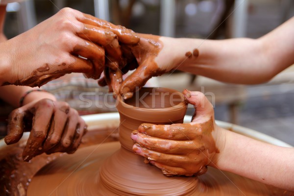
[[134,142],[130,135],[142,123],[172,124],[183,123],[186,103],[178,91],[167,88],[142,88],[130,99],[118,97],[117,109],[120,114],[120,142],[132,151]]

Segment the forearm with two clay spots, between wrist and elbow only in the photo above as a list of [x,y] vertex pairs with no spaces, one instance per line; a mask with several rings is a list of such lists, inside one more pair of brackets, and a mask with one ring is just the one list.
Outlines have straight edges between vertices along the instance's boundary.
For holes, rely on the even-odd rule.
[[[167,38],[161,38],[163,40]],[[170,38],[168,38],[170,39]],[[165,43],[166,41],[164,41]],[[175,68],[230,83],[255,84],[268,81],[270,65],[266,64],[259,40],[229,39],[200,40],[179,38],[170,42]],[[165,49],[165,46],[164,46]],[[164,50],[163,49],[163,50]],[[191,58],[186,52],[199,50],[199,56]]]

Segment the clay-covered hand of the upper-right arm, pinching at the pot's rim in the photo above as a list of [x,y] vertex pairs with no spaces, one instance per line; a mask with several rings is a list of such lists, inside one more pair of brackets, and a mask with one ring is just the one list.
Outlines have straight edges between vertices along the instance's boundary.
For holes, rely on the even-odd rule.
[[[166,56],[165,50],[164,53],[162,52],[162,49],[166,47],[166,43],[160,40],[162,37],[149,34],[138,34],[138,36],[140,36],[138,44],[121,44],[123,66],[120,72],[112,71],[109,69],[111,66],[107,66],[105,78],[99,81],[100,85],[110,84],[111,91],[113,90],[115,94],[122,94],[125,99],[132,97],[132,93],[144,86],[151,77],[173,69],[170,63],[171,58]],[[158,56],[160,56],[159,61],[156,60]],[[124,73],[134,69],[135,71],[124,81],[120,79]]]

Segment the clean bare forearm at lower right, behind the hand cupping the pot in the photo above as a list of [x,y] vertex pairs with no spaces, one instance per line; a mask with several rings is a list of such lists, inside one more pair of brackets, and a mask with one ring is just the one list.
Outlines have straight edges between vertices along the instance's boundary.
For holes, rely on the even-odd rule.
[[277,147],[224,130],[225,146],[218,154],[220,170],[294,191],[294,148]]

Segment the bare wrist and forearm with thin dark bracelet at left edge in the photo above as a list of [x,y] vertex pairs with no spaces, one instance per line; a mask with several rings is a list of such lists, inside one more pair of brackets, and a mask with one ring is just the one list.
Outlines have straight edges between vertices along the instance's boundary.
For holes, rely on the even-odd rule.
[[[15,85],[2,86],[0,87],[0,92],[1,92],[0,98],[14,107],[20,107],[21,106],[20,99],[22,98],[22,96],[25,95],[26,92],[32,89],[39,89],[39,88],[31,88],[28,86],[15,86]],[[48,92],[34,91],[25,96],[23,105],[32,101],[41,100],[43,98],[56,100],[56,98]]]

